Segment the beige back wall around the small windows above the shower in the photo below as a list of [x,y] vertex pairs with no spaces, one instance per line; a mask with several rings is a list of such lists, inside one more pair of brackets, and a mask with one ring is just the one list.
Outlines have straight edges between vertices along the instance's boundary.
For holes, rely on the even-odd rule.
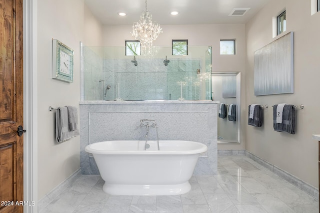
[[[190,46],[212,47],[212,72],[241,72],[241,120],[245,120],[245,28],[244,24],[208,24],[208,25],[161,25],[160,33],[154,41],[155,46],[171,46],[172,39],[188,39]],[[103,26],[104,46],[124,46],[125,40],[133,40],[131,25]],[[235,39],[236,54],[220,55],[220,39]],[[245,125],[245,122],[241,122]],[[221,150],[244,150],[244,134],[241,144],[219,144]]]

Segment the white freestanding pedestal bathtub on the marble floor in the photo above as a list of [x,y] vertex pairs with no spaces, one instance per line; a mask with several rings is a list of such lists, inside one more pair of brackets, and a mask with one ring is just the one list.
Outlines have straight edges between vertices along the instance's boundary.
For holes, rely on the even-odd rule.
[[181,195],[187,193],[204,144],[192,141],[103,141],[90,144],[103,191],[111,195]]

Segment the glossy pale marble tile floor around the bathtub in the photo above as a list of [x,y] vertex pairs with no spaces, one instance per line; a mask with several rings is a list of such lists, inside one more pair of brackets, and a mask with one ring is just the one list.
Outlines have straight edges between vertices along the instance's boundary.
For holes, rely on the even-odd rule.
[[40,213],[318,213],[318,201],[245,156],[218,156],[218,174],[193,176],[178,196],[112,196],[82,175]]

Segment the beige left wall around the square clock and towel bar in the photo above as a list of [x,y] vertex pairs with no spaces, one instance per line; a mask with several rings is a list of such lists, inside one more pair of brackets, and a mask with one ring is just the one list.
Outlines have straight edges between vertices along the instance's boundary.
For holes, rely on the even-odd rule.
[[[83,0],[38,0],[37,4],[37,137],[40,200],[79,169],[79,137],[57,144],[55,111],[49,112],[48,107],[73,105],[79,108],[79,42],[83,39],[84,4]],[[74,50],[73,83],[51,78],[52,38],[60,40]]]

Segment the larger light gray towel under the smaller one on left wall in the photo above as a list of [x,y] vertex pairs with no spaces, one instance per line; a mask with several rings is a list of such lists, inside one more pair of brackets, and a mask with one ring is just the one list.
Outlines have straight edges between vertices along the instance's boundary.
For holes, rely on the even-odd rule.
[[55,139],[56,142],[64,142],[74,136],[79,135],[79,131],[69,131],[68,110],[66,107],[58,107],[55,114]]

